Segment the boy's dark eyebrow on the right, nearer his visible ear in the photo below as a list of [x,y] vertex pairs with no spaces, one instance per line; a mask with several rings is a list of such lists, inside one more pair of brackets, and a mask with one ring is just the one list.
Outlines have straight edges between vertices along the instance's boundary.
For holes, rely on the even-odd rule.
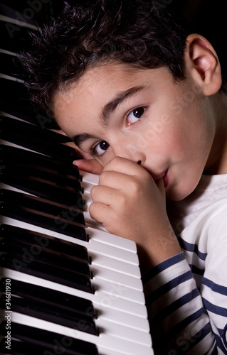
[[117,94],[117,96],[114,99],[112,99],[112,101],[108,102],[105,105],[105,107],[103,107],[102,114],[101,114],[101,119],[102,119],[103,123],[105,124],[105,126],[108,126],[110,114],[113,111],[115,111],[115,109],[117,108],[117,106],[119,104],[122,104],[122,102],[124,102],[125,99],[127,99],[128,97],[132,97],[135,94],[137,94],[138,92],[143,91],[146,87],[147,87],[147,85],[139,85],[136,87],[130,87],[130,89],[127,89],[124,92],[120,92],[120,94]]

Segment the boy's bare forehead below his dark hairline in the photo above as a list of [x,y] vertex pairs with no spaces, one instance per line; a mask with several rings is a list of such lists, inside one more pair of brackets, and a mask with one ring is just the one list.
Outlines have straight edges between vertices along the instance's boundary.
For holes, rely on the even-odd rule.
[[[144,69],[126,64],[108,63],[87,70],[80,80],[70,84],[67,90],[56,94],[53,112],[57,123],[68,136],[77,128],[83,131],[86,121],[105,122],[108,114],[120,102],[126,101],[148,87],[155,90],[156,84],[166,84],[167,68]],[[77,130],[77,129],[76,129]]]

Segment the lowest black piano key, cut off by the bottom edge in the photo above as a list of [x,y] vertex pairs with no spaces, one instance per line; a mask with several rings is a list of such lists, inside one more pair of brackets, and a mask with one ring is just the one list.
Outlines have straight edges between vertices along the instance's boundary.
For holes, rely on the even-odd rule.
[[[1,323],[0,334],[6,336],[6,322]],[[60,354],[64,355],[98,355],[95,344],[72,337],[66,337],[65,335],[50,332],[49,330],[28,327],[24,324],[11,322],[11,334],[15,339],[21,341],[16,342],[14,339],[11,339],[12,352],[10,352],[10,354],[13,355],[41,355],[48,354],[48,351],[51,351],[49,353],[51,355],[56,354],[56,349],[58,349]],[[15,343],[19,343],[20,345],[18,346],[18,344]],[[0,347],[0,350],[3,352],[5,349],[4,346],[6,346],[6,344],[3,343]],[[35,353],[34,351],[36,351],[36,349],[38,352]]]

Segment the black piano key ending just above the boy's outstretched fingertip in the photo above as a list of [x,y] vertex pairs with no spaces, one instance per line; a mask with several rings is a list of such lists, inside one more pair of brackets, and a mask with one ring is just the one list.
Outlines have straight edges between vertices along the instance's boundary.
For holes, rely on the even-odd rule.
[[[6,118],[8,119],[8,117]],[[73,162],[73,160],[77,159],[75,149],[69,146],[59,145],[56,142],[48,140],[43,141],[29,136],[29,134],[28,136],[22,136],[20,132],[14,129],[14,125],[11,126],[11,129],[10,127],[5,127],[2,118],[0,119],[0,123],[2,126],[0,138],[5,141],[9,141],[17,144],[18,146],[31,149],[31,151],[46,154],[63,161]]]

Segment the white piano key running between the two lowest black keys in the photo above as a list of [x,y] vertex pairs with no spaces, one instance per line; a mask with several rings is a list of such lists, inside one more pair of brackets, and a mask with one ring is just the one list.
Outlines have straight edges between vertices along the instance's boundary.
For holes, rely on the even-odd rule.
[[152,344],[138,344],[137,342],[120,339],[113,337],[110,334],[105,334],[105,332],[100,333],[99,336],[93,334],[88,334],[81,332],[79,330],[64,327],[60,324],[54,324],[47,322],[45,320],[39,320],[38,318],[29,317],[27,315],[21,315],[17,312],[12,312],[11,322],[16,322],[19,324],[26,324],[31,327],[37,327],[39,329],[51,329],[51,332],[56,332],[58,334],[63,334],[65,337],[73,337],[75,339],[81,339],[86,342],[93,343],[97,346],[99,354],[110,355],[108,351],[115,351],[115,354],[125,354],[125,355],[153,355]]

